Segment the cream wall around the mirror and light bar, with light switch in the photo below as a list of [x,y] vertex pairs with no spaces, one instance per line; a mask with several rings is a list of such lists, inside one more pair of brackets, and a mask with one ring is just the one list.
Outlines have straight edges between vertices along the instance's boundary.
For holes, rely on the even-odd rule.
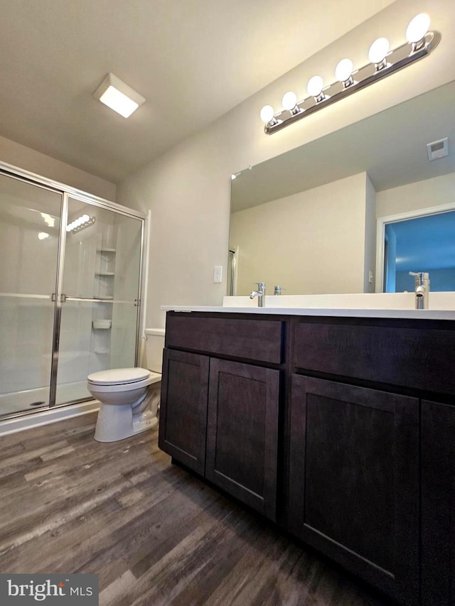
[[[258,117],[262,105],[280,107],[287,90],[306,96],[304,87],[315,73],[332,82],[333,68],[345,56],[355,65],[365,64],[379,36],[387,36],[392,47],[399,45],[407,23],[422,11],[431,14],[432,28],[443,35],[429,58],[273,136],[264,135]],[[118,202],[151,209],[146,324],[164,325],[162,304],[221,303],[227,272],[223,284],[213,284],[213,266],[226,270],[231,173],[454,80],[454,55],[453,0],[397,1],[119,184]]]

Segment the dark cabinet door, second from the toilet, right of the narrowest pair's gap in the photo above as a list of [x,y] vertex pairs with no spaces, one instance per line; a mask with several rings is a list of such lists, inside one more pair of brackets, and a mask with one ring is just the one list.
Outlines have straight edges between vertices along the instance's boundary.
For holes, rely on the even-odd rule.
[[205,476],[275,519],[279,371],[210,359]]

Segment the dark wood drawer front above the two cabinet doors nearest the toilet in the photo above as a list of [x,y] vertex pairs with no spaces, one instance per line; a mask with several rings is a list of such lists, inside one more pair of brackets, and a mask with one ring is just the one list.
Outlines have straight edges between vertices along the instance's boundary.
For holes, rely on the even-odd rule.
[[280,364],[282,322],[169,314],[166,347]]

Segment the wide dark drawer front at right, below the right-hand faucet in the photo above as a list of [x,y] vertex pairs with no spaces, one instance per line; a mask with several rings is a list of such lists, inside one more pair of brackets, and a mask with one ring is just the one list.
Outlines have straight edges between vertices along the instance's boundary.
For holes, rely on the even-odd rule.
[[455,394],[455,330],[299,323],[294,367]]

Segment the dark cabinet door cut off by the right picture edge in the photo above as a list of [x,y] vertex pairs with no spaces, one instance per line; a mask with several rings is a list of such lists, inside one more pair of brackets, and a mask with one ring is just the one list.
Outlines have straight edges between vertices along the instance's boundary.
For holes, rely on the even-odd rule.
[[455,604],[455,407],[422,401],[422,604]]

